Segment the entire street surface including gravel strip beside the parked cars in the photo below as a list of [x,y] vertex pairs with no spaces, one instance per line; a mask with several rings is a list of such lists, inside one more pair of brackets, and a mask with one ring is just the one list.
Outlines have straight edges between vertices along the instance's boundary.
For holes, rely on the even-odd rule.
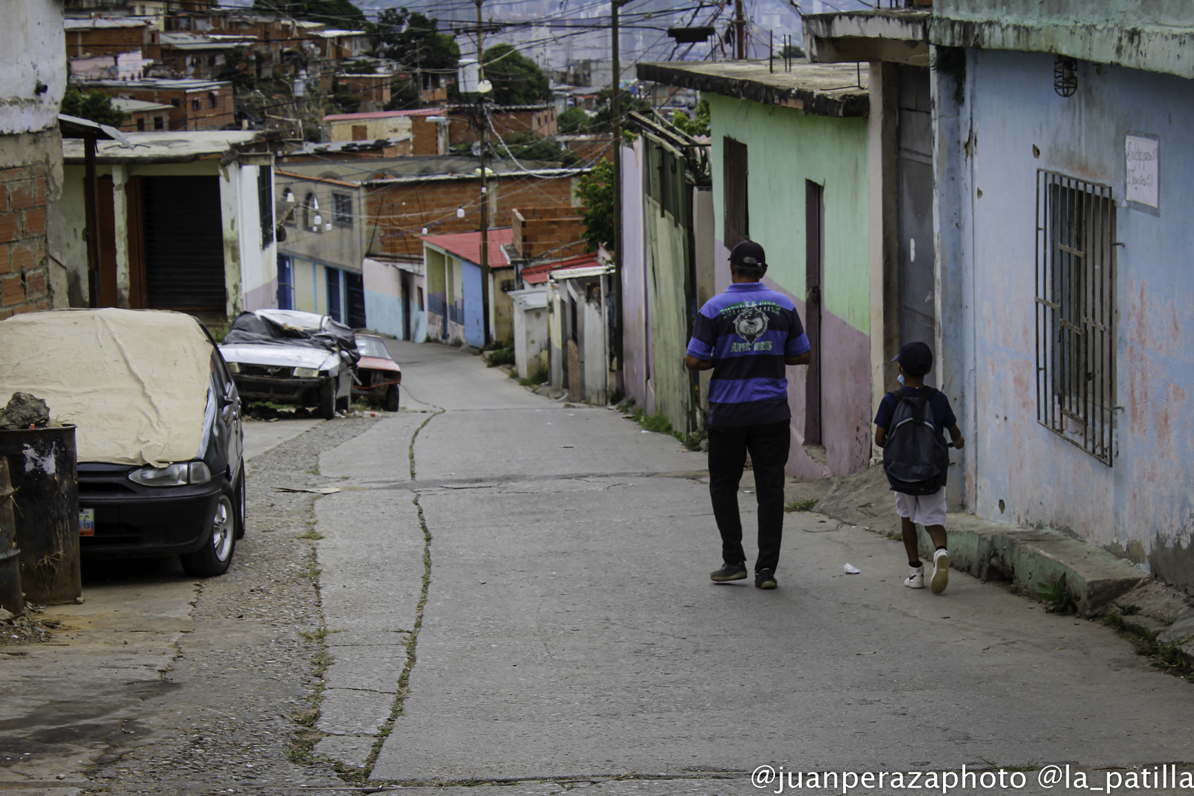
[[93,570],[84,605],[47,609],[61,635],[5,648],[0,789],[293,794],[339,771],[427,795],[745,795],[787,790],[752,786],[762,765],[965,764],[1040,794],[1050,764],[1101,786],[1096,769],[1192,761],[1189,684],[1108,628],[960,573],[904,588],[900,543],[816,513],[787,516],[778,590],[715,585],[701,453],[390,345],[399,413],[246,424],[227,575]]

